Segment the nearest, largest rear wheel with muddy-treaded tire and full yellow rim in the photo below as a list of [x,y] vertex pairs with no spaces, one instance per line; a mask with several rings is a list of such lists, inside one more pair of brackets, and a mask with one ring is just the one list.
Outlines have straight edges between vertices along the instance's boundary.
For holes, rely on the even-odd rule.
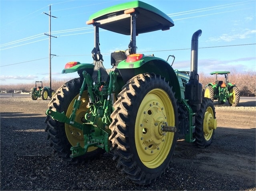
[[178,128],[178,106],[165,79],[140,74],[123,87],[114,104],[109,138],[115,158],[133,182],[149,184],[165,174],[177,141],[177,132],[163,132],[161,126]]

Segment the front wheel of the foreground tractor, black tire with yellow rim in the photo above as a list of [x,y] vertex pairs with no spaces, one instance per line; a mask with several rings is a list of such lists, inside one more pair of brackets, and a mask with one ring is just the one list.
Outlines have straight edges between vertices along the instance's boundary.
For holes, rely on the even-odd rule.
[[215,116],[215,108],[210,98],[204,97],[200,110],[196,116],[196,129],[194,137],[196,145],[200,148],[206,148],[212,144],[215,129],[217,128],[217,120]]

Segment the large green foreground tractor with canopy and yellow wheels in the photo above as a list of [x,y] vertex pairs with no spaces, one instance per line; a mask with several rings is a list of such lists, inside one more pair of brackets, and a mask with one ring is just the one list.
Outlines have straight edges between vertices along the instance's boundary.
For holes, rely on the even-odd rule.
[[[174,26],[157,8],[118,4],[91,15],[87,24],[95,31],[93,64],[67,63],[62,73],[79,77],[57,90],[46,111],[47,139],[60,158],[83,163],[113,152],[117,168],[145,185],[165,174],[179,134],[199,148],[212,144],[215,108],[202,97],[197,71],[201,30],[192,35],[191,71],[179,72],[168,63],[173,55],[166,61],[136,53],[137,35]],[[100,28],[130,35],[126,51],[111,53],[110,69],[103,66]]]

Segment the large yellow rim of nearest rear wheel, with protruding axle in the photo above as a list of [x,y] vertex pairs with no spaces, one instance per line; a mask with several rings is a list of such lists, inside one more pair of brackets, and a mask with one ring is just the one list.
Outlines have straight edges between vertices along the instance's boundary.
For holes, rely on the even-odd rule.
[[165,91],[153,89],[142,100],[135,121],[135,145],[141,162],[160,166],[171,150],[174,133],[163,132],[161,125],[175,126],[173,104]]

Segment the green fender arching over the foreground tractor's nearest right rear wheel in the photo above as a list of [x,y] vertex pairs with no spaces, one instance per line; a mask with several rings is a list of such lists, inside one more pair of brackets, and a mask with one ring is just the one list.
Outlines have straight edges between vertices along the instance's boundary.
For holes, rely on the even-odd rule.
[[179,101],[181,100],[181,91],[177,75],[171,65],[161,58],[143,55],[140,60],[135,62],[123,60],[117,65],[117,69],[125,83],[135,75],[142,73],[161,75],[161,77],[165,77],[165,81],[169,82],[169,86],[173,87],[175,97]]

